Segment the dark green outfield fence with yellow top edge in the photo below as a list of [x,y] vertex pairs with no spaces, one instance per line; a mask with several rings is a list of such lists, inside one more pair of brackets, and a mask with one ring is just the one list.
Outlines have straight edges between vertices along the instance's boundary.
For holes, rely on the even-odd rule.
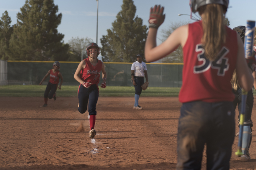
[[[53,61],[8,61],[8,84],[39,84]],[[78,85],[74,73],[80,62],[60,62],[63,85]],[[104,63],[107,72],[107,86],[133,86],[131,82],[132,63]],[[146,63],[148,82],[151,87],[181,87],[183,64]],[[2,68],[2,66],[1,66]],[[1,69],[2,70],[2,69]],[[2,74],[2,73],[1,73]],[[146,80],[144,78],[144,80]],[[49,76],[43,84],[47,84]],[[102,73],[100,82],[102,81]]]

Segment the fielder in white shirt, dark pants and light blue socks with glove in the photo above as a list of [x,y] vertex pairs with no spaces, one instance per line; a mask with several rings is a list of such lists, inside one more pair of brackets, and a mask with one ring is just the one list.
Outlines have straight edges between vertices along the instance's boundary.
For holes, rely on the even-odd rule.
[[148,82],[148,72],[147,72],[147,66],[146,63],[142,61],[142,57],[144,54],[139,53],[137,54],[136,58],[137,61],[132,63],[132,84],[134,85],[135,88],[135,102],[133,109],[138,109],[141,110],[142,107],[139,106],[139,98],[140,94],[142,92],[141,85],[144,83],[144,76],[146,78],[146,82]]

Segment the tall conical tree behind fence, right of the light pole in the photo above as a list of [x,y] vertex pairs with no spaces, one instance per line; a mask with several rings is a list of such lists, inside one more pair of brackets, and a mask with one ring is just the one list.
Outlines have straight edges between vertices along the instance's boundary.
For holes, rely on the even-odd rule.
[[147,26],[142,25],[141,18],[135,17],[133,0],[123,0],[121,7],[112,28],[107,30],[108,35],[100,39],[104,62],[134,62],[137,53],[144,53]]

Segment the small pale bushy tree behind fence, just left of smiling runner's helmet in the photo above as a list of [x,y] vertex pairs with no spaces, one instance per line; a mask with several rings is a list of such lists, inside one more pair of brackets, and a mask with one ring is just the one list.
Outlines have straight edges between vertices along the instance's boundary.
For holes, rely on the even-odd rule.
[[88,44],[92,43],[92,39],[86,38],[73,38],[68,41],[70,46],[71,56],[68,61],[81,61],[82,51],[83,51],[83,59],[87,58],[86,55],[86,47]]

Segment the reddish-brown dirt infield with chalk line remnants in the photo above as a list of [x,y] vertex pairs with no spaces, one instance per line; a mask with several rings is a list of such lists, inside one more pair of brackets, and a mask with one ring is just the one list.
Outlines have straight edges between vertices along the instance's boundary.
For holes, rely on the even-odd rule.
[[[134,110],[133,97],[100,97],[95,139],[89,138],[88,112],[78,112],[77,97],[48,100],[48,107],[42,107],[43,101],[0,97],[0,170],[175,169],[178,98],[141,97],[143,109]],[[256,107],[253,121],[255,112]],[[230,169],[256,169],[254,129],[252,159],[241,162],[235,156],[236,137]],[[205,162],[206,156],[202,169],[206,169]]]

